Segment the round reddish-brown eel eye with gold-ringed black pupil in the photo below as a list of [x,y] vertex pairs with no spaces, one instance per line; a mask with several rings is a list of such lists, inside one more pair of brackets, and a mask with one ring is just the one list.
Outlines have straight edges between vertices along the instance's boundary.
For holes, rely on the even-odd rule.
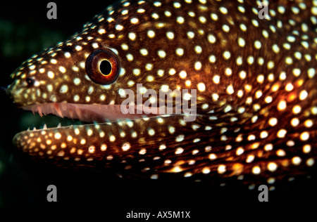
[[118,79],[120,63],[117,55],[112,51],[98,49],[88,56],[85,69],[92,81],[108,85]]

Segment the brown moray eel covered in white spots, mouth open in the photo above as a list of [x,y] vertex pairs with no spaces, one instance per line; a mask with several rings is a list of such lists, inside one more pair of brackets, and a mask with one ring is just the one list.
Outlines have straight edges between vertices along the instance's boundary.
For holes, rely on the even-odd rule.
[[[90,124],[23,131],[13,143],[44,162],[121,177],[272,184],[310,175],[317,4],[266,3],[108,6],[81,32],[26,60],[7,90],[25,110]],[[120,110],[128,90],[159,108],[149,89],[168,92],[181,112]],[[195,112],[186,113],[185,102]]]

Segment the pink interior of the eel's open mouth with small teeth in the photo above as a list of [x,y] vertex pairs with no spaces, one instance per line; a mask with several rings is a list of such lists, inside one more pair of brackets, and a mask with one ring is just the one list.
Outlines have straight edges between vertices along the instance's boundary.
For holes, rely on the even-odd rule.
[[[58,117],[79,119],[83,122],[118,121],[118,119],[137,119],[145,114],[123,114],[120,105],[76,104],[76,103],[42,103],[23,106],[23,110],[38,112],[43,115],[53,114]],[[154,116],[154,115],[147,115]]]

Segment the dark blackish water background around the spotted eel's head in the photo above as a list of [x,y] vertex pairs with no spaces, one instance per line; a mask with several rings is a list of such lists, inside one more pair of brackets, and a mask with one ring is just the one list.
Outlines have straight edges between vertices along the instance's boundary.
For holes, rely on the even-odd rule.
[[[85,22],[111,4],[54,1],[58,19],[48,20],[48,2],[11,1],[1,6],[0,86],[10,84],[9,75],[24,60],[80,31]],[[56,169],[35,163],[15,150],[11,141],[15,133],[42,119],[13,107],[3,92],[0,100],[0,207],[102,207],[105,215],[116,212],[117,218],[124,218],[131,210],[154,214],[178,210],[191,211],[192,218],[210,218],[217,214],[218,207],[242,207],[246,212],[251,206],[263,209],[265,205],[258,202],[259,192],[246,186],[220,188],[192,181],[128,180],[96,171]],[[57,186],[58,202],[46,201],[50,184]],[[316,201],[316,185],[316,178],[280,185],[269,192],[268,204]]]

